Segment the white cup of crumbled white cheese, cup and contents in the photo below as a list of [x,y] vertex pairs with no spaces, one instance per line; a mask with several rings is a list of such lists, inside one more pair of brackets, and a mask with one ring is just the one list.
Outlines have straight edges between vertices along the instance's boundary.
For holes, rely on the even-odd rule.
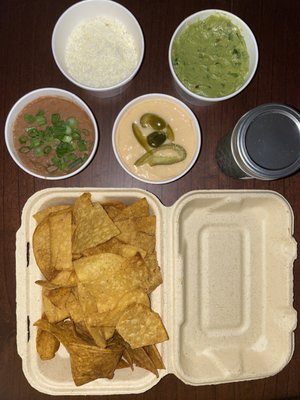
[[144,57],[144,36],[134,15],[121,4],[84,0],[58,19],[52,53],[72,83],[111,97],[137,74]]

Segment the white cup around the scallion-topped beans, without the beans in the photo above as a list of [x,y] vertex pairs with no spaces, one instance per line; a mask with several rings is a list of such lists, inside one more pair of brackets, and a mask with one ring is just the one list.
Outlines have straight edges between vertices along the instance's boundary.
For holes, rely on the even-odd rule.
[[[21,159],[18,155],[18,152],[14,146],[13,125],[14,125],[15,119],[17,118],[18,114],[23,110],[23,108],[27,104],[31,103],[35,99],[42,97],[42,96],[63,97],[67,100],[70,100],[73,103],[76,103],[78,106],[80,106],[87,113],[87,115],[89,116],[89,118],[92,121],[92,124],[94,127],[94,132],[95,132],[95,141],[94,141],[91,153],[90,153],[88,159],[78,169],[72,171],[69,174],[60,175],[60,176],[44,176],[44,175],[40,175],[34,171],[31,171],[27,166],[25,166],[23,164],[23,162],[21,161]],[[57,88],[41,88],[41,89],[36,89],[36,90],[33,90],[32,92],[25,94],[13,105],[13,107],[11,108],[10,112],[7,115],[6,122],[5,122],[5,142],[6,142],[7,149],[9,151],[9,154],[11,155],[12,159],[23,171],[27,172],[28,174],[30,174],[36,178],[41,178],[41,179],[59,180],[59,179],[70,178],[74,175],[77,175],[84,168],[86,168],[87,165],[93,159],[93,157],[96,153],[97,147],[98,147],[98,140],[99,140],[98,126],[97,126],[95,117],[94,117],[92,111],[90,110],[90,108],[87,106],[87,104],[83,100],[81,100],[78,96],[76,96],[75,94],[68,92],[66,90],[57,89]]]

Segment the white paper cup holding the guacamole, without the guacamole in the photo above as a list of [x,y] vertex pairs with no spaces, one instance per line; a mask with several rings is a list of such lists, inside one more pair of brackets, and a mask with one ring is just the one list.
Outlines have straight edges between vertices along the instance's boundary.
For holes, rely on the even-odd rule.
[[[178,79],[176,72],[173,68],[173,63],[172,63],[172,47],[173,47],[173,43],[174,43],[175,39],[178,37],[178,35],[180,35],[186,29],[186,27],[188,25],[190,25],[191,23],[195,23],[199,20],[206,19],[207,17],[209,17],[212,14],[219,14],[219,15],[229,18],[231,20],[231,22],[240,29],[240,31],[244,37],[244,40],[245,40],[245,43],[247,46],[247,50],[248,50],[248,54],[249,54],[249,72],[247,74],[247,77],[246,77],[243,85],[235,92],[230,93],[227,96],[223,96],[223,97],[205,97],[205,96],[201,96],[196,93],[193,93],[191,90],[186,88],[186,86],[184,86],[183,83]],[[242,90],[244,90],[246,88],[246,86],[249,85],[250,81],[252,80],[252,78],[256,72],[257,64],[258,64],[258,56],[259,56],[259,53],[258,53],[256,39],[255,39],[251,29],[249,28],[249,26],[244,21],[242,21],[239,17],[237,17],[236,15],[234,15],[228,11],[217,10],[217,9],[199,11],[199,12],[196,12],[195,14],[190,15],[186,19],[184,19],[172,35],[170,45],[169,45],[169,52],[168,52],[169,67],[170,67],[172,76],[176,82],[176,88],[178,89],[178,92],[180,93],[181,96],[184,97],[185,100],[189,101],[192,104],[196,104],[196,105],[213,104],[213,103],[216,103],[219,101],[227,100],[227,99],[230,99],[230,98],[236,96],[238,93],[240,93]]]

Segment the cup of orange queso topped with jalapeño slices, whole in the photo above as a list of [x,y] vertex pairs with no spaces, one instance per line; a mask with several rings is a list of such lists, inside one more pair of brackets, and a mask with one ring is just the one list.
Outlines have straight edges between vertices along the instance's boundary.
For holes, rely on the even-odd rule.
[[192,168],[201,148],[201,130],[183,102],[151,93],[121,110],[113,126],[112,144],[128,174],[146,183],[164,184]]

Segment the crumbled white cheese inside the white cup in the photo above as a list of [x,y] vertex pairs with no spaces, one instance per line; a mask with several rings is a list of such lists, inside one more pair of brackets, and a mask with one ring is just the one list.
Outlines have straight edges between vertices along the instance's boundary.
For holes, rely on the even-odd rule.
[[81,84],[106,88],[126,79],[138,63],[132,35],[117,19],[86,19],[71,32],[65,50],[69,74]]

